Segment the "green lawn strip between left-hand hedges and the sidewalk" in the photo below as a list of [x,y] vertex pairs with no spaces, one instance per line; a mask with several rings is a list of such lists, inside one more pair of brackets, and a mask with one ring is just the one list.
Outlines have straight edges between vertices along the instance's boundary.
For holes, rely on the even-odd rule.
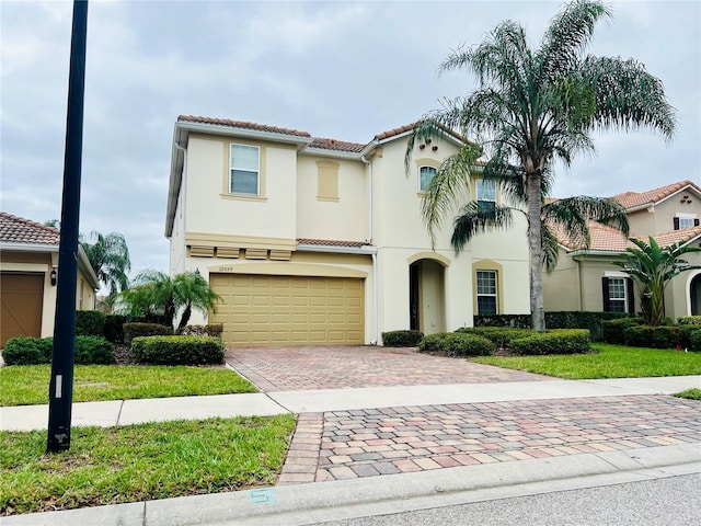
[[[48,365],[2,367],[0,405],[48,403],[49,378]],[[255,391],[251,382],[225,368],[140,365],[74,368],[74,402]]]

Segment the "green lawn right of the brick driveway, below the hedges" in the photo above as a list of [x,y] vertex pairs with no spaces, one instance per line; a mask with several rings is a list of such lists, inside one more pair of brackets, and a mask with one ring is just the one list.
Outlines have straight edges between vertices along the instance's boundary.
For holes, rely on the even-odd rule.
[[701,375],[701,353],[594,343],[591,354],[484,356],[480,364],[568,379]]

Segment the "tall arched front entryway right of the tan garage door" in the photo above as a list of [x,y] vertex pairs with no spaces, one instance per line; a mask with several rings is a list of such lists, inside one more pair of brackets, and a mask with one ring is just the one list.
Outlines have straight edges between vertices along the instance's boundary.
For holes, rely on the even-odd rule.
[[424,334],[446,330],[445,266],[434,259],[409,265],[410,328]]

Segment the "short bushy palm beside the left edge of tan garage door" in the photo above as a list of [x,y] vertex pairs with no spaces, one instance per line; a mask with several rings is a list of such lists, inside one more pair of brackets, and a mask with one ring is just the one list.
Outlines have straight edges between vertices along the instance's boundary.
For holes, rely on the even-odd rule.
[[123,295],[131,316],[163,313],[165,324],[173,325],[179,310],[183,309],[179,329],[187,325],[193,309],[202,312],[215,310],[221,299],[198,272],[186,272],[173,277],[148,270],[139,273],[134,286]]

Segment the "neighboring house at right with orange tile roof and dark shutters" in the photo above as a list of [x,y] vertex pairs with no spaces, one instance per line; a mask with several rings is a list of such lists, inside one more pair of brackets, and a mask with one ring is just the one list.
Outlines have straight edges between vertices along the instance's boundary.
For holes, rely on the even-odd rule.
[[[701,245],[701,187],[696,183],[679,181],[612,198],[628,211],[631,237],[647,241],[653,236],[660,247]],[[560,260],[543,284],[545,310],[640,312],[639,290],[611,264],[627,247],[634,245],[620,231],[601,225],[590,225],[590,247],[583,249],[559,233]],[[700,253],[683,259],[701,264]],[[701,271],[683,272],[671,281],[665,291],[665,311],[673,320],[701,315]]]

